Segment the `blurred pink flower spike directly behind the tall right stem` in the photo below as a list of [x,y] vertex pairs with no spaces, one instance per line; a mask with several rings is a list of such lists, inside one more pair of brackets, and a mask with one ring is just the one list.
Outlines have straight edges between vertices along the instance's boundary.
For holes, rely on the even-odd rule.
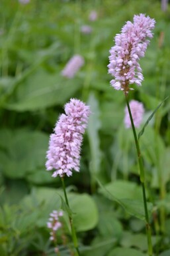
[[[144,105],[142,102],[138,102],[138,100],[131,100],[129,102],[130,110],[132,112],[132,118],[134,121],[134,126],[139,128],[140,124],[142,123],[142,119],[144,116]],[[124,124],[126,128],[132,127],[132,124],[130,122],[130,116],[128,112],[128,107],[125,108],[125,116],[124,116]]]

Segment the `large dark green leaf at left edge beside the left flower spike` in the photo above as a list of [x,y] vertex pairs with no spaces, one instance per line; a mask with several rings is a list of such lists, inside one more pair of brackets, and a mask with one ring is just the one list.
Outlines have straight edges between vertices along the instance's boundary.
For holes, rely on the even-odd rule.
[[[2,140],[1,140],[2,138]],[[26,173],[44,168],[48,136],[29,130],[1,130],[1,170],[9,178],[26,178]]]

